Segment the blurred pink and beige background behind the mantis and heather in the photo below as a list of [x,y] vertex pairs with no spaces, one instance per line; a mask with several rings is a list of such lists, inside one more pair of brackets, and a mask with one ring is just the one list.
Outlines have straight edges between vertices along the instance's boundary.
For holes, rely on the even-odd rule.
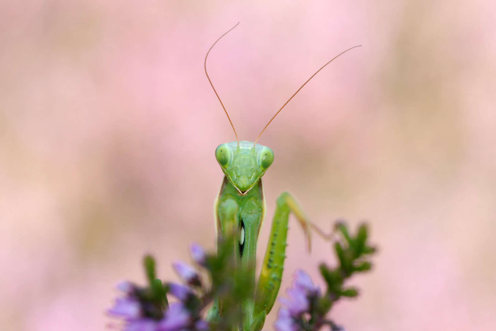
[[[380,247],[350,331],[496,329],[496,6],[490,0],[0,1],[0,329],[105,330],[141,257],[214,249],[216,146],[259,142],[268,218],[292,192]],[[291,220],[281,293],[308,255]],[[273,312],[276,312],[278,304]],[[274,314],[264,330],[272,330]]]

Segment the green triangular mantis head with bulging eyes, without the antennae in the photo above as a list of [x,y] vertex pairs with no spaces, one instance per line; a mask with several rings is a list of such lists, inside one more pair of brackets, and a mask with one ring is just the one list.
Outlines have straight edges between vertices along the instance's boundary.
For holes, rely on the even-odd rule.
[[274,161],[274,152],[246,140],[231,141],[217,147],[215,158],[238,194],[246,196]]

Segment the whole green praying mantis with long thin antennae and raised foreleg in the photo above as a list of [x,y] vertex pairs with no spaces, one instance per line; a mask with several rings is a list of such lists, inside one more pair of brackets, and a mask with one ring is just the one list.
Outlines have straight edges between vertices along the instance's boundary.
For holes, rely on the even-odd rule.
[[[237,25],[238,24],[236,24],[236,26]],[[274,152],[272,149],[257,144],[256,142],[270,122],[272,122],[284,106],[288,104],[288,102],[315,74],[317,74],[317,72],[343,53],[359,46],[352,47],[342,52],[318,69],[305,84],[303,84],[295,94],[286,101],[269,123],[267,123],[265,128],[263,128],[254,142],[245,140],[240,141],[226,108],[222,104],[222,101],[208,76],[206,67],[208,54],[215,44],[229,31],[217,39],[212,47],[210,47],[205,56],[204,63],[205,74],[207,75],[208,81],[210,82],[215,95],[217,95],[217,98],[231,123],[234,134],[236,135],[236,141],[220,144],[215,150],[215,158],[224,172],[224,180],[222,181],[217,199],[215,199],[214,217],[218,240],[221,237],[228,237],[236,234],[234,236],[236,240],[233,242],[233,250],[235,251],[237,265],[242,270],[246,269],[247,272],[249,272],[248,276],[254,283],[255,271],[253,266],[255,265],[257,240],[266,214],[266,203],[261,177],[274,161]],[[240,326],[240,329],[243,331],[261,330],[266,315],[270,312],[275,303],[282,280],[290,212],[296,216],[305,232],[309,251],[311,237],[310,228],[315,229],[319,234],[323,235],[323,233],[310,222],[301,206],[288,192],[283,192],[277,198],[276,209],[270,229],[270,237],[256,291],[254,296],[244,302],[241,307],[244,312],[244,321],[243,325]],[[217,300],[208,312],[207,319],[214,318],[216,314],[222,314],[222,302],[218,302]]]

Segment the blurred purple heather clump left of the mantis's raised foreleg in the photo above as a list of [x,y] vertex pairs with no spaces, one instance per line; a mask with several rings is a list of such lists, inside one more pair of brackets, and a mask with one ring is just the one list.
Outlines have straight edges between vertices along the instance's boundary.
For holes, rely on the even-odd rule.
[[[183,283],[162,284],[155,278],[155,260],[145,257],[148,286],[118,284],[123,296],[116,299],[108,314],[124,322],[123,331],[234,330],[244,317],[239,307],[253,295],[254,284],[237,267],[232,239],[219,240],[217,254],[207,254],[199,245],[191,245],[191,257],[204,272],[184,262],[174,263]],[[169,304],[168,295],[177,301]]]

